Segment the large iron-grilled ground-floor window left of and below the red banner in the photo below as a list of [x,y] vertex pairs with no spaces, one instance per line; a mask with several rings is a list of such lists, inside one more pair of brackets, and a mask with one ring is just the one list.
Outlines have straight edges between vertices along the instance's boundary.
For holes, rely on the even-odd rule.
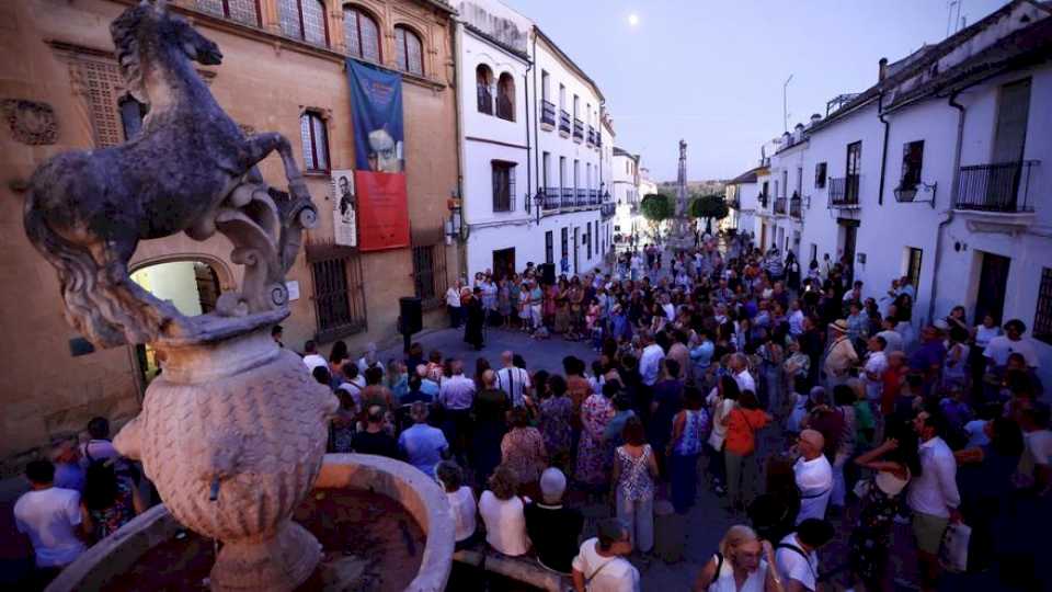
[[305,251],[313,282],[316,340],[329,342],[366,330],[358,251],[331,241],[308,243]]

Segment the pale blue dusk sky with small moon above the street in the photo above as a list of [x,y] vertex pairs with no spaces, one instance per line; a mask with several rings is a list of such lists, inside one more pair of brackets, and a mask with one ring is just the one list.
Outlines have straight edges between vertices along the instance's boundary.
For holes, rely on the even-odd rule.
[[[617,146],[642,153],[658,181],[675,180],[681,137],[690,180],[746,171],[782,132],[790,73],[791,128],[872,86],[881,57],[945,38],[949,13],[948,0],[503,1],[599,84]],[[1006,3],[961,1],[968,23]]]

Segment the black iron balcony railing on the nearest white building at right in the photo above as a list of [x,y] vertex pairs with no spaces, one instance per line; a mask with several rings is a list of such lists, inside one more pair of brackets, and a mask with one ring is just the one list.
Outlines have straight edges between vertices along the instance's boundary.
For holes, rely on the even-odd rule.
[[1031,177],[1038,160],[961,167],[954,209],[1019,213],[1033,212]]

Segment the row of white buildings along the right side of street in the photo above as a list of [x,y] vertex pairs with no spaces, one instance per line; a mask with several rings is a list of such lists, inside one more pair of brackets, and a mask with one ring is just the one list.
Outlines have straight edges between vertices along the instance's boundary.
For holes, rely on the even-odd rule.
[[[915,326],[1020,319],[1052,380],[1052,16],[1014,1],[893,64],[771,157],[761,238],[844,261],[864,295],[916,289]],[[788,187],[786,186],[788,182]],[[777,189],[776,189],[777,187]],[[761,190],[762,193],[762,190]],[[800,195],[799,223],[776,212]]]

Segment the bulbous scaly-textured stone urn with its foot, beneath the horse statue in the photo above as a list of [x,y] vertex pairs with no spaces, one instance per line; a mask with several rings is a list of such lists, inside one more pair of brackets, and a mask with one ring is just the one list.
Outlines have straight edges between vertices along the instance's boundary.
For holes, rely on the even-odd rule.
[[114,445],[141,459],[176,520],[222,542],[213,590],[294,590],[321,549],[289,516],[318,477],[338,399],[270,323],[158,348],[164,371]]

